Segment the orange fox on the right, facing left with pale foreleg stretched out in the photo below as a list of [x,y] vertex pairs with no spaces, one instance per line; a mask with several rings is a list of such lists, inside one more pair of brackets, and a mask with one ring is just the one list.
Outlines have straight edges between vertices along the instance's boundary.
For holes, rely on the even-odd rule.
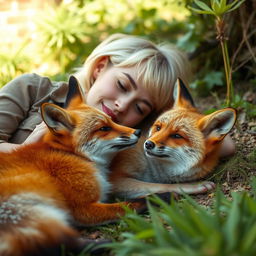
[[200,114],[180,79],[173,98],[173,108],[157,118],[148,139],[114,158],[110,181],[116,195],[136,198],[168,191],[193,194],[214,188],[209,181],[171,183],[198,180],[213,170],[221,142],[236,121],[236,111],[226,108],[210,115]]

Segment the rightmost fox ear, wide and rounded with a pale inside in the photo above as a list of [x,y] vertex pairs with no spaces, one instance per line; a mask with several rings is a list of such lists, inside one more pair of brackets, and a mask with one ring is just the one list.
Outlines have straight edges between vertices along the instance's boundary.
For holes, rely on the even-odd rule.
[[199,128],[205,138],[220,141],[230,132],[236,122],[236,110],[225,108],[206,115],[199,120]]

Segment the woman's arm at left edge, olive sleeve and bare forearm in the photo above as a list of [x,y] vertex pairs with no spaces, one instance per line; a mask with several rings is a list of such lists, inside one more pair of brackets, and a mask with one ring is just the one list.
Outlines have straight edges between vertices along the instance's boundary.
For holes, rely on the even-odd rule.
[[[33,104],[38,100],[42,88],[40,86],[41,77],[35,74],[25,74],[17,77],[0,90],[0,151],[10,151],[19,146],[38,140],[43,133],[45,126],[38,126],[32,132],[26,130],[27,139],[23,142],[16,142],[12,140],[14,133],[27,120],[31,120],[32,114],[36,113],[34,121],[41,122],[38,117],[37,110],[31,109]],[[39,92],[40,91],[40,92]],[[23,125],[24,126],[24,125]],[[26,129],[26,128],[25,128]],[[25,138],[26,138],[25,137]],[[24,139],[25,139],[24,138]],[[22,143],[22,144],[20,144]]]

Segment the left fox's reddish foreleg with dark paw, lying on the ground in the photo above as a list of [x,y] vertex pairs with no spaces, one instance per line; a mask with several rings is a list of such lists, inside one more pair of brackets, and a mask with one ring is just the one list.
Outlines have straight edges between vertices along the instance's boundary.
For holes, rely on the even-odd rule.
[[104,224],[120,219],[125,214],[125,206],[141,212],[146,209],[146,199],[138,198],[120,203],[88,203],[80,207],[76,206],[72,210],[72,215],[85,225]]

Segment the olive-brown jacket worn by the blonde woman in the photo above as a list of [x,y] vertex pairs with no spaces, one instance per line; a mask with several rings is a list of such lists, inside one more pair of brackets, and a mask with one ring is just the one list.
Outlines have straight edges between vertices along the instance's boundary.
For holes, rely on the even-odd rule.
[[63,106],[68,83],[52,82],[37,74],[24,74],[0,89],[0,143],[21,144],[42,122],[40,106]]

